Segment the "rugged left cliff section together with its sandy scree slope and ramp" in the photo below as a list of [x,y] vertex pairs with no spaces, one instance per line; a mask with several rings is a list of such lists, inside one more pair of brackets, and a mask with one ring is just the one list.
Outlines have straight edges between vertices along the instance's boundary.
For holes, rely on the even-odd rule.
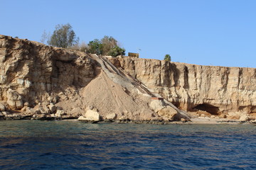
[[104,57],[0,35],[0,118],[188,120]]

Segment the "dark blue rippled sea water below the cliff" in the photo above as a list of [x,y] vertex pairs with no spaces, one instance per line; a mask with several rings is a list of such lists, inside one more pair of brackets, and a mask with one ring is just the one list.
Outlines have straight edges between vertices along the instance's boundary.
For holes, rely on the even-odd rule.
[[255,130],[0,121],[0,169],[256,169]]

